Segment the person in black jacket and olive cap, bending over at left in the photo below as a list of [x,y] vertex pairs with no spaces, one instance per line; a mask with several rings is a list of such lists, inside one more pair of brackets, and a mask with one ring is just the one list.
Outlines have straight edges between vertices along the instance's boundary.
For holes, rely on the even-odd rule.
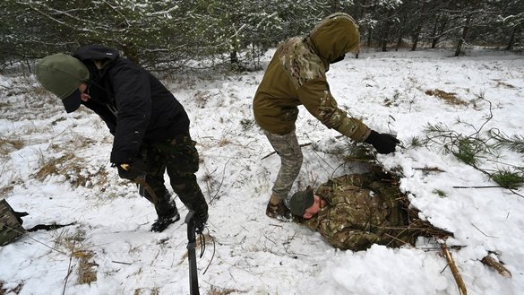
[[164,185],[168,171],[171,187],[185,206],[195,212],[202,231],[208,205],[194,173],[199,169],[189,118],[171,92],[148,71],[100,45],[79,48],[73,56],[44,57],[37,79],[71,113],[90,108],[115,136],[110,161],[121,178],[133,180],[141,195],[155,205],[158,219],[152,231],[165,230],[180,219],[175,201]]

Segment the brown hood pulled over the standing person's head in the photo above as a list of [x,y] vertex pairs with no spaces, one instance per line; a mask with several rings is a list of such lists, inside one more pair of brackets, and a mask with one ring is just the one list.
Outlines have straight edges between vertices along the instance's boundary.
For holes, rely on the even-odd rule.
[[360,35],[351,16],[333,13],[314,27],[309,40],[316,53],[329,63],[358,48]]

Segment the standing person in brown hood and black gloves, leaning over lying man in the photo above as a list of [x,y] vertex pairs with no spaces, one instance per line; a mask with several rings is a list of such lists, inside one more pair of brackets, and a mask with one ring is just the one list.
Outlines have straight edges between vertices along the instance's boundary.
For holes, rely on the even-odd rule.
[[272,57],[253,99],[254,118],[281,161],[266,215],[290,217],[288,194],[303,161],[295,129],[299,105],[323,125],[357,143],[371,143],[381,153],[395,151],[399,143],[395,137],[379,134],[359,119],[348,117],[331,96],[326,72],[346,53],[357,52],[359,39],[355,21],[346,13],[334,13],[306,37],[288,39]]

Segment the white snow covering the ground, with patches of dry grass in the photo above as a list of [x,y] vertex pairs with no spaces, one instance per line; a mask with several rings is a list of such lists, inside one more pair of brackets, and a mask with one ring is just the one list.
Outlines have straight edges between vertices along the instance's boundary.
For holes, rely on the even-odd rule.
[[[446,50],[363,52],[358,59],[347,57],[331,65],[328,80],[341,108],[402,141],[398,152],[377,155],[377,161],[385,169],[401,171],[400,187],[423,218],[454,233],[447,244],[468,293],[522,294],[524,189],[486,187],[496,184],[445,154],[442,146],[408,143],[414,136],[425,138],[428,124],[474,134],[490,111],[493,118],[480,134],[498,128],[521,135],[524,59],[486,50],[451,56]],[[419,239],[417,247],[374,245],[366,251],[340,251],[314,231],[265,216],[279,157],[262,160],[272,152],[271,145],[253,125],[253,94],[262,75],[263,71],[213,80],[163,77],[192,121],[202,160],[197,177],[210,204],[205,252],[200,257],[200,247],[196,251],[201,293],[459,294],[434,241]],[[25,93],[8,91],[23,85]],[[20,149],[11,147],[0,154],[2,197],[14,210],[30,213],[23,218],[26,229],[40,223],[75,224],[29,232],[1,247],[0,290],[188,294],[183,204],[176,199],[181,221],[162,233],[150,232],[156,214],[110,167],[112,137],[106,126],[85,108],[66,114],[60,101],[35,85],[34,77],[0,76],[1,151],[11,146],[4,142],[23,142]],[[452,105],[425,94],[434,90],[453,92],[468,104]],[[333,152],[353,143],[322,126],[305,108],[300,108],[296,127],[299,143],[312,144],[303,147],[304,165],[293,190],[318,187],[355,169]],[[50,161],[58,163],[58,173],[38,178],[39,169]],[[524,159],[521,153],[502,149],[479,166],[521,171]],[[78,282],[81,259],[75,251],[92,252],[96,282]],[[511,278],[480,262],[488,253],[496,253]]]

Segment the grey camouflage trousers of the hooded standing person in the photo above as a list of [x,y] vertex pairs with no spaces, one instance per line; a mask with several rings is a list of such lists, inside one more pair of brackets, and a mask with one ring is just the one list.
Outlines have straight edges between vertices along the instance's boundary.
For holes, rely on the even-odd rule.
[[293,129],[288,134],[272,134],[264,130],[264,134],[268,137],[275,152],[280,157],[280,169],[272,192],[278,195],[280,199],[288,204],[289,191],[293,187],[300,168],[302,167],[302,150],[296,139],[296,129]]

